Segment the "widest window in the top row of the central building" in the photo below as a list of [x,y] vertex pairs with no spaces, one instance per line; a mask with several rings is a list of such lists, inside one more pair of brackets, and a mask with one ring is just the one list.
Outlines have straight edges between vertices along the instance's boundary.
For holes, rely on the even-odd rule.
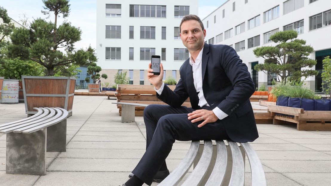
[[166,18],[165,5],[130,5],[130,17]]

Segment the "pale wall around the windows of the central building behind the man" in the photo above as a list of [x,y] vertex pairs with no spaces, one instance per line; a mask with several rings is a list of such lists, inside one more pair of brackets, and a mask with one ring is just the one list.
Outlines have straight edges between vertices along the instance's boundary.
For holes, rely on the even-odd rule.
[[[106,4],[121,4],[120,17],[106,17]],[[129,17],[129,6],[133,5],[166,5],[166,18],[142,18]],[[190,6],[190,14],[198,15],[198,0],[189,2],[177,2],[175,0],[168,1],[152,1],[152,0],[98,0],[97,1],[97,65],[108,75],[107,80],[114,84],[114,75],[118,69],[133,70],[133,83],[139,84],[139,70],[145,70],[147,75],[148,64],[150,60],[140,60],[140,48],[155,48],[155,55],[161,56],[161,48],[166,48],[166,60],[163,63],[164,70],[177,70],[177,82],[179,80],[179,68],[185,60],[174,60],[174,48],[185,48],[180,39],[174,39],[174,27],[179,27],[182,18],[174,18],[174,6]],[[121,38],[106,39],[106,25],[121,26]],[[129,26],[134,27],[134,38],[129,39]],[[155,39],[140,39],[140,26],[155,27]],[[162,27],[166,27],[166,39],[161,39]],[[105,59],[106,47],[120,47],[120,60]],[[129,60],[129,48],[134,48],[134,58]],[[167,72],[168,74],[168,72]],[[171,73],[170,73],[171,74]],[[129,75],[129,72],[127,73]],[[168,75],[166,75],[168,76]],[[150,84],[146,80],[145,84]]]

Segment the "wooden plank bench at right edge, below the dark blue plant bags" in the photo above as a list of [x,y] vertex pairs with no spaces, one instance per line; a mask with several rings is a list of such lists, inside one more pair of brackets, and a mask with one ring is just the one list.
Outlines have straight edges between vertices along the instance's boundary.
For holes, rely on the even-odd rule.
[[[310,111],[279,105],[268,105],[268,111],[273,117],[274,125],[294,123],[297,124],[297,130],[331,131],[330,111]],[[287,114],[287,116],[277,115],[277,113]]]

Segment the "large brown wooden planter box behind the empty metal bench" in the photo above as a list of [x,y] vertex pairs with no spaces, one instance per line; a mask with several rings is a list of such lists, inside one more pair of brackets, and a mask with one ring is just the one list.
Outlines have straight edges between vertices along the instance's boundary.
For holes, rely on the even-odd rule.
[[22,76],[25,113],[37,113],[33,107],[60,107],[72,115],[76,78]]

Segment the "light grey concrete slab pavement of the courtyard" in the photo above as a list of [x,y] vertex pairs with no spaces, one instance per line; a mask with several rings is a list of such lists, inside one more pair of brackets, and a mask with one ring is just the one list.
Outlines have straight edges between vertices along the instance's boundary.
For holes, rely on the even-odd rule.
[[[67,119],[67,152],[47,152],[44,176],[6,174],[6,135],[0,134],[0,185],[118,186],[128,179],[145,151],[143,118],[120,123],[116,104],[111,104],[116,100],[103,96],[75,96],[73,102]],[[0,104],[0,124],[25,117],[24,103]],[[260,137],[251,145],[261,159],[268,186],[331,185],[331,132],[270,124],[258,124],[258,130]],[[189,146],[190,142],[174,144],[167,158],[170,171]],[[249,165],[245,171],[245,185],[251,185]]]

